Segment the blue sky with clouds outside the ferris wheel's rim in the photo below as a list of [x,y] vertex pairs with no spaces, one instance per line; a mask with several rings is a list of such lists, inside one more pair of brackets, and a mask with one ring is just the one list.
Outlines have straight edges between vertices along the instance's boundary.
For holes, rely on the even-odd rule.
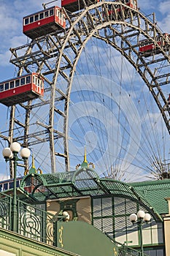
[[[47,1],[0,0],[0,80],[6,80],[16,75],[17,69],[9,63],[11,57],[9,48],[16,48],[28,42],[28,38],[22,32],[23,16],[42,10],[42,3],[47,3]],[[59,1],[54,4],[60,5]],[[169,0],[139,0],[138,5],[145,15],[151,15],[152,12],[155,12],[159,28],[170,34]],[[0,105],[0,111],[3,110],[4,106]],[[0,123],[0,131],[4,130],[4,127],[5,124]],[[2,162],[4,162],[4,159],[0,152],[0,166]]]

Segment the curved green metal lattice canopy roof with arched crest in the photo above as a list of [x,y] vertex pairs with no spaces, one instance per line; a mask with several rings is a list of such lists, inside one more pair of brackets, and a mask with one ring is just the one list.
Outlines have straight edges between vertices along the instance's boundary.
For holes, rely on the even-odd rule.
[[[154,189],[152,189],[154,182],[155,184],[159,184],[160,181],[152,181],[150,184],[152,197],[154,195]],[[163,184],[163,182],[161,183]],[[152,211],[152,214],[155,214],[158,219],[161,219],[159,214],[168,212],[167,202],[163,199],[163,194],[160,195],[160,200],[158,200],[158,196],[156,196],[155,201],[150,200],[150,197],[146,196],[146,191],[149,186],[146,182],[125,184],[124,182],[115,181],[111,178],[99,178],[98,174],[90,167],[80,167],[80,169],[76,171],[64,173],[41,175],[30,173],[23,178],[20,184],[20,190],[23,191],[23,194],[26,193],[27,197],[28,188],[31,187],[31,184],[34,184],[34,189],[32,189],[29,194],[31,196],[30,199],[32,200],[34,198],[35,201],[39,202],[48,199],[87,195],[91,197],[98,195],[116,195],[139,201],[142,206]],[[167,186],[170,186],[170,183],[167,183]],[[160,191],[160,189],[158,190]],[[168,191],[166,196],[168,196]],[[161,200],[163,200],[163,202]],[[156,201],[157,204],[155,204]],[[163,204],[163,208],[161,208],[161,204]],[[160,206],[160,208],[155,206]],[[163,209],[163,211],[161,211],[161,209]]]

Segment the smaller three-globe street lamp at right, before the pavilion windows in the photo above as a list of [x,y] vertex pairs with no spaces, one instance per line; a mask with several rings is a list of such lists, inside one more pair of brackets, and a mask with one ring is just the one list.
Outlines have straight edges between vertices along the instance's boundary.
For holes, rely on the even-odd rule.
[[150,214],[145,214],[144,211],[140,210],[137,212],[137,215],[131,214],[129,219],[133,225],[135,222],[139,224],[141,255],[144,256],[142,224],[143,224],[143,222],[150,222],[151,216],[150,216]]

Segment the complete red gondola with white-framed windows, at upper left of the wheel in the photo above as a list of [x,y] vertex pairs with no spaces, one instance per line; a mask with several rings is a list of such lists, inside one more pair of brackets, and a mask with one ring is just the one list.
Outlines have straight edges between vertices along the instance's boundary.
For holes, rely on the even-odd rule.
[[23,18],[23,34],[31,39],[65,28],[65,14],[60,7],[50,7]]

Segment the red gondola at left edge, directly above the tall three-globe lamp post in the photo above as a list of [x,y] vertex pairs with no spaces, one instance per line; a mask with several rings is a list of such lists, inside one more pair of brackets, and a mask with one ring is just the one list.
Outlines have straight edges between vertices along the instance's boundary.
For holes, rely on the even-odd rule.
[[44,95],[44,80],[31,73],[0,83],[0,103],[12,106]]

